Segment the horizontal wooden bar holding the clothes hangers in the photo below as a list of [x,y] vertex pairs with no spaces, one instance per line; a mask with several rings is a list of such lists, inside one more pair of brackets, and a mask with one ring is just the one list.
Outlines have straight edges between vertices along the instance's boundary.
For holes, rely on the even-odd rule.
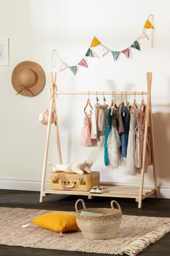
[[55,94],[66,94],[66,95],[148,95],[147,92],[70,92],[70,91],[56,91]]

